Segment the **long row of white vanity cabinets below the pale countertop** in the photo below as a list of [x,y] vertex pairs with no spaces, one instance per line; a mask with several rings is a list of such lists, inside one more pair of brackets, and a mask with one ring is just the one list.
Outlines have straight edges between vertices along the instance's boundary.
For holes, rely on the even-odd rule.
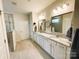
[[70,46],[57,42],[55,39],[34,33],[34,41],[54,59],[70,59]]

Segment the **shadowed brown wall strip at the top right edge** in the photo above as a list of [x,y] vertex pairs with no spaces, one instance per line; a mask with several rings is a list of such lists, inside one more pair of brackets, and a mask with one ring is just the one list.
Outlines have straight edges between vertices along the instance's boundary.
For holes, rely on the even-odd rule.
[[72,20],[72,26],[74,29],[79,28],[79,0],[75,0],[75,9]]

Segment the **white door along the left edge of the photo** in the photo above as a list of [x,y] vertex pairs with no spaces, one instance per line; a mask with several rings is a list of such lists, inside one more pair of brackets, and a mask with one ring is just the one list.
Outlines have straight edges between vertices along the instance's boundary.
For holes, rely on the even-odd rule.
[[2,27],[2,19],[1,19],[1,14],[0,14],[0,59],[7,59],[7,51],[6,51],[6,42],[4,42],[4,30]]

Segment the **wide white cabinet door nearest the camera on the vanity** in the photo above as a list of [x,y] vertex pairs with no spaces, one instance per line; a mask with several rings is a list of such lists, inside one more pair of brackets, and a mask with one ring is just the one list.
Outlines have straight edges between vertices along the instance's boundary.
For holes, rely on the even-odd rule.
[[55,59],[65,59],[66,57],[65,54],[66,54],[65,46],[57,43],[57,45],[54,48]]

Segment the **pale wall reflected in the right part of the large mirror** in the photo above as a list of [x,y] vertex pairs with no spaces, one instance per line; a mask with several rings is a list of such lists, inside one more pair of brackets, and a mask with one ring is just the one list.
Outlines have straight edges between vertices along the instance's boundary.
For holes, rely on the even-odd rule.
[[73,13],[63,15],[63,34],[67,34],[67,31],[71,27]]

